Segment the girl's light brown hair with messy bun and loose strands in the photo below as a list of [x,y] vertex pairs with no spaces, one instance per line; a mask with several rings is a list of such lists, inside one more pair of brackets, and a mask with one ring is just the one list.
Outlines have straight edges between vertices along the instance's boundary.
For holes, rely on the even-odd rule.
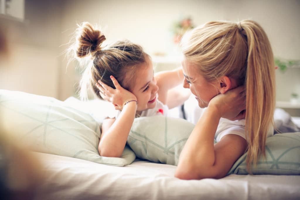
[[85,67],[79,85],[81,99],[88,98],[88,87],[101,98],[95,86],[98,80],[115,88],[110,79],[111,75],[123,88],[131,90],[136,70],[150,58],[140,45],[128,40],[117,41],[103,47],[104,40],[106,40],[104,34],[88,22],[83,22],[76,29],[75,42],[70,46],[69,52],[73,54],[72,58],[77,58]]

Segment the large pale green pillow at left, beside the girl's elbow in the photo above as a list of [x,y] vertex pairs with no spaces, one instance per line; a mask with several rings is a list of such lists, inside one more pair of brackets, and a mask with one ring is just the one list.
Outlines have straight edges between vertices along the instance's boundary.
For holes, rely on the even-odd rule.
[[121,158],[101,157],[100,124],[55,98],[0,90],[0,113],[1,132],[32,151],[113,166],[125,166],[135,159],[128,147]]

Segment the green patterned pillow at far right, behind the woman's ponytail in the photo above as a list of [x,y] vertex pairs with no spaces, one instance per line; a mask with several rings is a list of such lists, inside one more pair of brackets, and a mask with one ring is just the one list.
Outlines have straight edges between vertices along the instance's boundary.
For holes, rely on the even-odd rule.
[[[247,153],[232,166],[228,174],[249,174],[246,169]],[[268,137],[265,159],[261,157],[256,167],[251,166],[254,175],[300,175],[300,132],[278,133]]]

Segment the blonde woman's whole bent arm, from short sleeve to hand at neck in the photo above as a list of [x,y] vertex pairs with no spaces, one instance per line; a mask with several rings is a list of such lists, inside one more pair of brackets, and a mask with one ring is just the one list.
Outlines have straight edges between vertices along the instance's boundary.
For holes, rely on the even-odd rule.
[[241,136],[229,134],[214,144],[220,118],[240,117],[238,113],[244,108],[244,100],[236,96],[238,90],[241,88],[226,92],[226,96],[217,95],[211,100],[180,154],[175,172],[177,178],[222,178],[244,154],[247,142]]

